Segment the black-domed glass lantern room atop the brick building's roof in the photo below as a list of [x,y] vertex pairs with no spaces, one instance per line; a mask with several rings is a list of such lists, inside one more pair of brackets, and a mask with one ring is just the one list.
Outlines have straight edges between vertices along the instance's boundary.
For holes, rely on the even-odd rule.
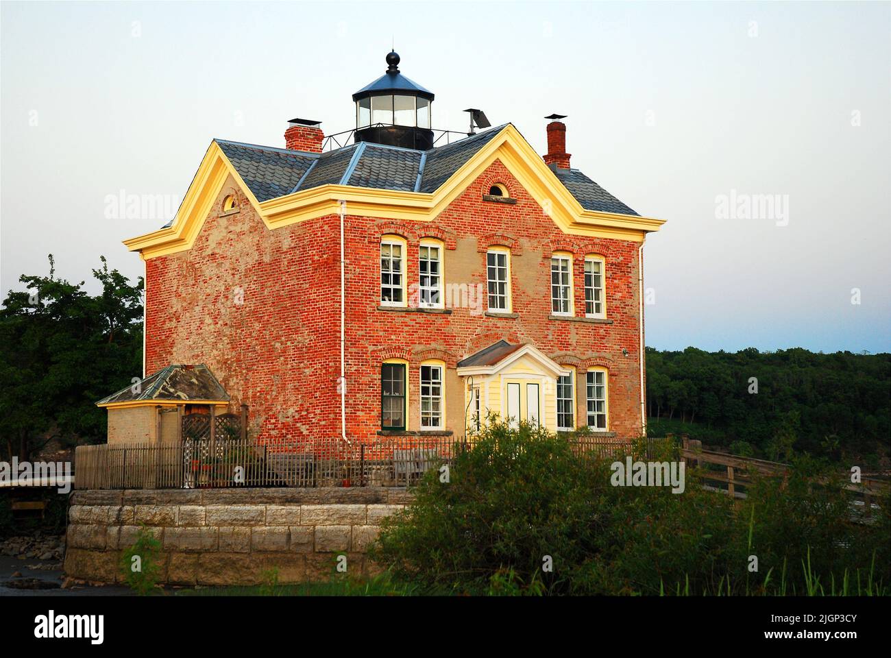
[[353,95],[356,142],[426,151],[433,148],[430,104],[433,92],[399,72],[399,55],[387,54],[387,72]]

